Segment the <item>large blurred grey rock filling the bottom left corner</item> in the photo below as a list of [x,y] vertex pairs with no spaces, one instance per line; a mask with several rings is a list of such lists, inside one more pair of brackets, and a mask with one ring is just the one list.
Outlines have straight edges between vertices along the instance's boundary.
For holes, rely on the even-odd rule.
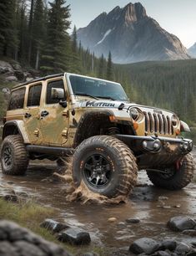
[[16,223],[0,221],[0,255],[70,256],[63,248],[21,228]]

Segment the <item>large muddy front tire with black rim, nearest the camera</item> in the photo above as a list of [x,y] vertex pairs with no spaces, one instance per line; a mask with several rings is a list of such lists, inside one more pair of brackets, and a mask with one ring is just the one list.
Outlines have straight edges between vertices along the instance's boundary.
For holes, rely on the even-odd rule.
[[128,195],[137,181],[138,166],[132,151],[112,136],[93,136],[73,155],[73,182],[83,181],[93,192],[107,197]]

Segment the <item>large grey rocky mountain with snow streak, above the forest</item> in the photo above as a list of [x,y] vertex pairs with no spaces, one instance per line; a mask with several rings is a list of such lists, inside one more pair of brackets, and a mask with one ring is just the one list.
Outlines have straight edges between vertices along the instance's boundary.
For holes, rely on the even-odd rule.
[[96,56],[107,57],[111,51],[113,62],[120,64],[190,58],[180,40],[148,17],[141,3],[101,13],[87,27],[78,29],[79,41]]

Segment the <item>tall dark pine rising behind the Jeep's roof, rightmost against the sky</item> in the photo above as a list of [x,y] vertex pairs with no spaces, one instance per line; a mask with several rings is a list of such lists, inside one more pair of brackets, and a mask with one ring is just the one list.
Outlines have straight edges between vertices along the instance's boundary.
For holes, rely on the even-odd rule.
[[43,54],[44,73],[56,73],[67,71],[70,60],[70,38],[68,28],[69,6],[65,6],[65,0],[54,0],[50,4],[48,12],[48,31]]

